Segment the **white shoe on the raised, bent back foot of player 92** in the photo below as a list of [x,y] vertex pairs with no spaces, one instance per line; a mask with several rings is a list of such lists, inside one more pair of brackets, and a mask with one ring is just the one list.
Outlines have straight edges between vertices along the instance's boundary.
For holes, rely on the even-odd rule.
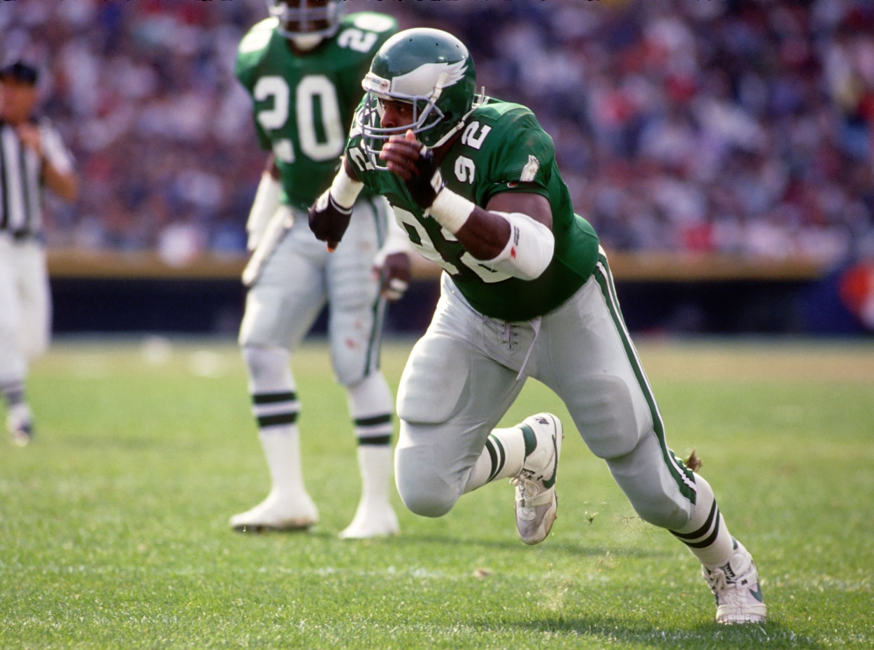
[[537,446],[519,474],[510,479],[516,486],[516,528],[524,543],[538,544],[549,535],[558,512],[555,479],[564,432],[561,421],[551,413],[532,415],[519,426],[534,432]]

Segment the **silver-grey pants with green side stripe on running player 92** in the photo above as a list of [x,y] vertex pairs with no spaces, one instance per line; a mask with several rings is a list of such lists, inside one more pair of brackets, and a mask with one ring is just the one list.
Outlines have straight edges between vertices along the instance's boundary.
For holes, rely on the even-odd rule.
[[[533,322],[479,314],[445,273],[440,288],[434,320],[398,391],[395,477],[408,508],[426,516],[452,508],[489,432],[525,377],[534,377],[564,401],[586,445],[607,460],[644,520],[669,529],[688,522],[694,479],[665,442],[603,254],[576,294]],[[559,482],[572,471],[563,466]]]

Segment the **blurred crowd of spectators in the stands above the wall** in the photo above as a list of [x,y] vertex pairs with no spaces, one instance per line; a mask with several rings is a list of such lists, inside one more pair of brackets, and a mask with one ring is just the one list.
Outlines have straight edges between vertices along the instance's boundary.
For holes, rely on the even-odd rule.
[[[462,38],[614,250],[874,257],[870,0],[346,0]],[[258,0],[3,3],[80,163],[53,246],[236,254],[265,155],[233,76]]]

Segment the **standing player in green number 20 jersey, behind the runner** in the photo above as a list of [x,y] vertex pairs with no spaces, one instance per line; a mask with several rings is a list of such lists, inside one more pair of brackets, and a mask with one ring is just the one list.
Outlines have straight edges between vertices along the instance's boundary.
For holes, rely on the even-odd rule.
[[327,302],[331,362],[346,389],[363,485],[340,536],[392,535],[393,401],[378,361],[385,301],[398,299],[409,280],[409,244],[385,199],[371,192],[350,202],[356,223],[334,255],[309,230],[306,210],[336,172],[374,52],[398,27],[378,13],[343,16],[339,0],[267,4],[271,17],[239,44],[236,73],[252,96],[261,147],[271,152],[246,225],[252,257],[239,344],[272,489],[231,526],[308,529],[317,521],[302,478],[289,361]]

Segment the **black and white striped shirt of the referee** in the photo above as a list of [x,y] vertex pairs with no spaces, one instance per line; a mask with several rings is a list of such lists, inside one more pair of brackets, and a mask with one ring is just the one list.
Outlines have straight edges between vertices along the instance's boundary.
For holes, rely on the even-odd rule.
[[[38,123],[43,156],[62,173],[73,170],[70,155],[52,123]],[[18,138],[16,128],[0,121],[0,231],[15,239],[39,234],[43,224],[42,161]]]

